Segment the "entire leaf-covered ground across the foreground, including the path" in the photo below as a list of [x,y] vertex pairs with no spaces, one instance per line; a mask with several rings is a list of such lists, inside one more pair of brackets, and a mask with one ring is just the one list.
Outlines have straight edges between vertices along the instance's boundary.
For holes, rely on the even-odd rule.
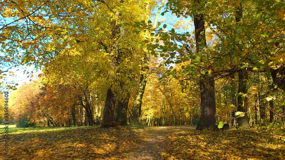
[[9,130],[9,156],[1,154],[0,159],[284,159],[285,156],[284,131],[194,129],[194,126],[13,128]]

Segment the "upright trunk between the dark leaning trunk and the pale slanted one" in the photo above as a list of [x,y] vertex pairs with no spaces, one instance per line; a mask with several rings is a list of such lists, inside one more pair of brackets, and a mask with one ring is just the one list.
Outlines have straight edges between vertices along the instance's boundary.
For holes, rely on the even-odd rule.
[[130,93],[127,93],[127,97],[118,100],[117,114],[115,121],[120,123],[121,126],[127,125],[127,112],[129,106]]

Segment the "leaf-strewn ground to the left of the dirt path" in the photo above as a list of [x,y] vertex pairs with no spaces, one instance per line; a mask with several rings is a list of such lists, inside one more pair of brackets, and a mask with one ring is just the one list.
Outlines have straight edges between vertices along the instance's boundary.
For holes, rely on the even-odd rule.
[[9,133],[9,156],[0,159],[124,159],[141,143],[133,128],[58,128]]

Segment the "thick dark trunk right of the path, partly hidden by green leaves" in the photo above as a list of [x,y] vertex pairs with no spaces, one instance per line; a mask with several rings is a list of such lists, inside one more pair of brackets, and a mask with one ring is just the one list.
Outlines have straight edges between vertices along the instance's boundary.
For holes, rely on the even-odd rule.
[[[203,15],[194,15],[195,26],[195,39],[196,39],[196,51],[202,52],[202,48],[207,46],[205,36],[205,22],[203,21]],[[203,32],[203,34],[201,34]],[[207,55],[205,55],[207,56]],[[216,123],[216,102],[215,102],[215,80],[211,75],[206,74],[200,79],[200,91],[201,91],[201,117],[200,122],[196,130],[217,130]]]

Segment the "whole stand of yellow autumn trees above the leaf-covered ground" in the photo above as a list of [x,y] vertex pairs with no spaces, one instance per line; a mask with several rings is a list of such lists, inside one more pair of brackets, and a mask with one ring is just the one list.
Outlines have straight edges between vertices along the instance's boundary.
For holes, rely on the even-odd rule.
[[283,1],[0,5],[1,87],[42,69],[10,95],[19,127],[285,125]]

